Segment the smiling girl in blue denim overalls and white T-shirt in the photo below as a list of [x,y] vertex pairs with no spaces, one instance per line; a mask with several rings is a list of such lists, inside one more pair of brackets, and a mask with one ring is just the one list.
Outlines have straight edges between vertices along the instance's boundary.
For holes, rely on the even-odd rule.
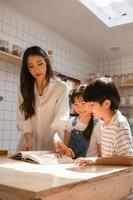
[[73,158],[100,156],[100,126],[98,120],[94,120],[91,112],[88,112],[88,105],[83,100],[85,86],[74,89],[70,95],[70,102],[73,105],[78,117],[72,117],[68,121],[64,134],[64,144],[60,144],[59,153],[67,154]]

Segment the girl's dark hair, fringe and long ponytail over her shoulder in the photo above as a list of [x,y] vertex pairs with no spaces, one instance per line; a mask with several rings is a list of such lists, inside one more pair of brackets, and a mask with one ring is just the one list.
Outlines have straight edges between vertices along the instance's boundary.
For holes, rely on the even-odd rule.
[[[73,89],[71,91],[71,94],[69,95],[70,97],[70,102],[72,104],[74,104],[75,98],[77,97],[78,99],[80,99],[81,97],[83,97],[84,91],[85,91],[85,86],[82,85],[79,88]],[[93,116],[91,116],[91,119],[86,127],[86,129],[84,131],[82,131],[82,134],[84,136],[84,138],[88,141],[90,141],[91,135],[92,135],[92,131],[94,128],[94,119]]]

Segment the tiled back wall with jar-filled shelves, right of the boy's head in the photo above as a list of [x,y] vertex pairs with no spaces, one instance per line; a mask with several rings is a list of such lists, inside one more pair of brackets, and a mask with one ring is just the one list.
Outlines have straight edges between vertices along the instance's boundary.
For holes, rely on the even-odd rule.
[[100,75],[110,75],[118,86],[122,86],[118,87],[121,95],[120,110],[127,117],[133,132],[133,56],[98,60],[97,64]]

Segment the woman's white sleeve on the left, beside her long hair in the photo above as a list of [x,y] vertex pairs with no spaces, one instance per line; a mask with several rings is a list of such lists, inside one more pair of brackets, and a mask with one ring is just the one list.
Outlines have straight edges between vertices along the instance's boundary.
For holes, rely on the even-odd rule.
[[25,120],[24,114],[20,110],[20,105],[22,103],[22,96],[19,94],[18,97],[18,108],[17,108],[17,127],[22,131],[22,133],[32,133],[31,120]]

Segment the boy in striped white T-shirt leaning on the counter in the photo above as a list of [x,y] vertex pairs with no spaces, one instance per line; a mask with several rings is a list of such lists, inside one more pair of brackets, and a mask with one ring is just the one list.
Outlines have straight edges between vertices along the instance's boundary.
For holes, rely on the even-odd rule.
[[83,98],[91,112],[103,119],[99,158],[80,158],[77,165],[133,165],[133,140],[130,126],[119,109],[120,95],[111,78],[98,78],[88,84]]

